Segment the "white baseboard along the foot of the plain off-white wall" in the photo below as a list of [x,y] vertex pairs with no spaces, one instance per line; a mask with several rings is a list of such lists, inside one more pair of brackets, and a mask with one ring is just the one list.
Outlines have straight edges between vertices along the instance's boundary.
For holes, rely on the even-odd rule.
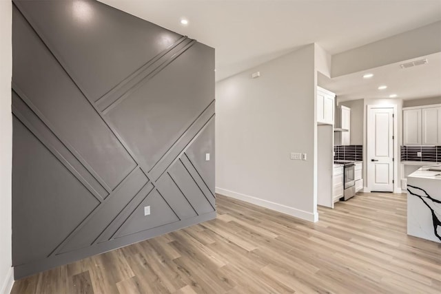
[[267,209],[271,209],[274,211],[285,213],[289,216],[294,216],[295,218],[301,218],[302,220],[307,220],[309,222],[317,222],[318,221],[318,213],[317,212],[310,213],[310,212],[303,211],[300,209],[295,209],[294,207],[287,207],[283,204],[278,204],[278,203],[271,202],[268,200],[263,200],[263,199],[256,198],[253,196],[245,195],[243,193],[237,193],[234,191],[229,191],[227,189],[222,189],[222,188],[218,188],[218,187],[216,187],[216,193],[223,195],[223,196],[227,196],[227,197],[235,198],[235,199],[242,200],[245,202],[249,202],[252,204],[256,204],[260,207],[265,207]]

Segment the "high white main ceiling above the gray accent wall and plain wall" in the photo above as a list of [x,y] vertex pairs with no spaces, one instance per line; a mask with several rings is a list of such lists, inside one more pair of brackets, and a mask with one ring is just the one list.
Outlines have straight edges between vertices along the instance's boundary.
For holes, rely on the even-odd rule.
[[309,43],[336,54],[441,20],[441,0],[101,1],[216,48],[216,81]]

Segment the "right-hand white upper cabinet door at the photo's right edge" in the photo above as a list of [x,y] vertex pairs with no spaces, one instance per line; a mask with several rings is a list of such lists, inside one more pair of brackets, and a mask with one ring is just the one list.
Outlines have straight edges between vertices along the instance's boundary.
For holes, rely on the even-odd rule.
[[441,145],[441,107],[421,109],[422,145]]

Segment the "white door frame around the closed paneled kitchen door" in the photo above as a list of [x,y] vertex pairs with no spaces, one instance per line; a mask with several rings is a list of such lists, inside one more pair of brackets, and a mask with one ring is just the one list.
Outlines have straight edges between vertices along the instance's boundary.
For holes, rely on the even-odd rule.
[[400,149],[400,146],[398,145],[398,105],[396,104],[369,104],[367,106],[367,112],[366,112],[366,129],[365,129],[365,146],[366,146],[366,152],[364,154],[365,162],[365,176],[366,176],[366,186],[363,189],[364,192],[370,192],[369,189],[369,175],[367,174],[367,147],[369,146],[367,144],[367,129],[369,128],[368,125],[368,118],[369,118],[369,112],[371,112],[372,109],[378,109],[378,108],[392,108],[393,109],[393,193],[401,193],[401,187],[399,185],[399,182],[401,182],[398,177],[398,162],[400,161],[400,156],[398,154],[398,150]]

